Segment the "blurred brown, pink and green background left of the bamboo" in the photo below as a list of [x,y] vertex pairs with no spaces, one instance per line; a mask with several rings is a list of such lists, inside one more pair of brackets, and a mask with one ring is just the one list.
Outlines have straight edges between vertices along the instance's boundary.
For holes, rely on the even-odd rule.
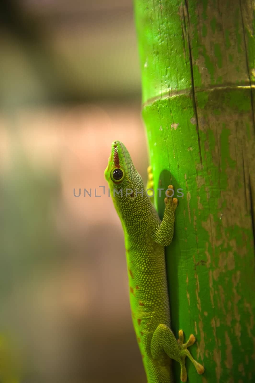
[[0,382],[145,382],[99,188],[115,139],[146,178],[132,1],[2,0],[0,18]]

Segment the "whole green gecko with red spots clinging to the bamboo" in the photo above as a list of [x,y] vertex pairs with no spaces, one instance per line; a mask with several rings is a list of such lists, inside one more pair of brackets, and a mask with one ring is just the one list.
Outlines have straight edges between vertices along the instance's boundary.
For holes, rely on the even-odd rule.
[[124,231],[132,321],[147,381],[173,383],[171,359],[180,363],[181,381],[186,381],[185,357],[203,374],[204,367],[187,350],[195,336],[183,343],[183,331],[179,331],[176,340],[170,329],[164,247],[172,242],[178,200],[167,191],[161,221],[120,141],[112,143],[105,178]]

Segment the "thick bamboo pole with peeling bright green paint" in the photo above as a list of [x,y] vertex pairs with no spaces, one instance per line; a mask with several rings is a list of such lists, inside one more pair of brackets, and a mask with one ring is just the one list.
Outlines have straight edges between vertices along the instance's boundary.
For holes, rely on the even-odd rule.
[[206,369],[188,360],[191,383],[255,381],[254,6],[134,1],[155,187],[184,193],[167,272],[172,329]]

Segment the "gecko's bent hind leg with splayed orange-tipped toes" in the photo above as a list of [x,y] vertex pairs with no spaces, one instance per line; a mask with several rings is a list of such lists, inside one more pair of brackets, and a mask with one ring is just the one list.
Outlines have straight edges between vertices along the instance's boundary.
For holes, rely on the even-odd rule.
[[169,358],[176,360],[181,366],[181,381],[187,380],[187,372],[185,367],[185,358],[188,357],[196,368],[199,374],[204,373],[204,367],[199,364],[187,350],[189,346],[195,343],[196,338],[193,334],[188,339],[188,342],[183,343],[183,331],[179,331],[179,339],[175,338],[172,330],[165,324],[159,324],[157,329],[154,331],[152,341],[150,344],[150,350],[152,357],[156,360],[164,359],[165,354]]

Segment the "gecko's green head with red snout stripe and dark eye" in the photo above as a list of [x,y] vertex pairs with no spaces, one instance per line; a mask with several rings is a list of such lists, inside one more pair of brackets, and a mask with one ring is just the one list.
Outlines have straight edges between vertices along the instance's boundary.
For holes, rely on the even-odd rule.
[[105,169],[105,178],[109,184],[113,201],[117,205],[134,203],[136,198],[133,197],[136,190],[141,191],[144,187],[142,178],[137,173],[129,152],[120,141],[113,141],[111,144],[111,155]]

